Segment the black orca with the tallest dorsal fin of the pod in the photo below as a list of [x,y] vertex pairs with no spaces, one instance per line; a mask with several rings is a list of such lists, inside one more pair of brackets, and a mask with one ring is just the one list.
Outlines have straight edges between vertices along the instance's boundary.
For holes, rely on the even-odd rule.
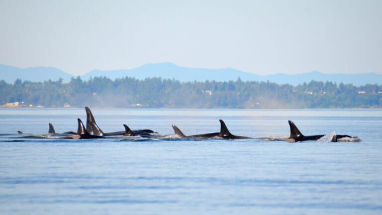
[[[89,107],[85,107],[86,110],[86,130],[90,134],[99,135],[99,136],[121,136],[125,135],[125,131],[115,131],[115,132],[103,132],[97,123],[95,122],[95,118],[93,116],[92,111]],[[141,129],[141,130],[132,130],[132,132],[145,132],[145,133],[155,133],[150,129]]]

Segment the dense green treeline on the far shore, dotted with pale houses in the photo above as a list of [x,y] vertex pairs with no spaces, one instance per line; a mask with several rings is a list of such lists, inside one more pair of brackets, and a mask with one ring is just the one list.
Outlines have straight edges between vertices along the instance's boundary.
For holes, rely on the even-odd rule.
[[[370,108],[382,107],[382,86],[311,81],[296,87],[270,82],[186,82],[105,77],[14,84],[0,81],[0,103],[103,108]],[[139,104],[139,105],[137,105]]]

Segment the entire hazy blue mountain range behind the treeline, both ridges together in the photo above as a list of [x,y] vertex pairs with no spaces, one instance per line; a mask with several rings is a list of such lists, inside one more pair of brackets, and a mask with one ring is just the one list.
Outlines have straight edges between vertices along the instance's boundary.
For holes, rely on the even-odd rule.
[[[236,81],[240,77],[243,81],[270,81],[278,84],[298,85],[304,82],[315,81],[331,81],[345,84],[353,84],[361,86],[365,84],[382,85],[382,75],[375,73],[365,74],[324,74],[313,71],[310,73],[286,75],[275,74],[260,76],[239,70],[224,69],[204,69],[204,68],[186,68],[180,67],[172,63],[146,64],[134,69],[120,70],[93,70],[83,76],[82,80],[89,80],[90,77],[105,76],[114,80],[125,76],[135,77],[137,79],[145,79],[147,77],[161,77],[163,79],[175,79],[181,82],[187,81]],[[7,83],[14,83],[17,78],[21,80],[29,80],[33,82],[42,82],[45,80],[56,81],[62,78],[64,82],[69,82],[72,75],[53,67],[31,67],[18,68],[0,64],[0,80]]]

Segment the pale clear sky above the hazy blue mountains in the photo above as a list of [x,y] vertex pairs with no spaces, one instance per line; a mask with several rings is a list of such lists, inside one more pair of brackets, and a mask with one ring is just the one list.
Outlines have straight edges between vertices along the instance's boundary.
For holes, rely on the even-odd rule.
[[382,74],[382,0],[0,0],[0,64]]

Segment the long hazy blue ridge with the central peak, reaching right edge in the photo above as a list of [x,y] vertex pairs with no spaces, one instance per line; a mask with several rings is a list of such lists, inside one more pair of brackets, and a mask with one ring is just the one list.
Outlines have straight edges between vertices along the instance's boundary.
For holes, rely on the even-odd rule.
[[112,80],[124,76],[144,79],[146,77],[162,77],[166,79],[176,79],[182,82],[185,81],[236,81],[238,77],[243,81],[270,81],[278,84],[298,85],[304,82],[309,83],[315,81],[331,81],[345,84],[354,84],[356,86],[365,84],[382,84],[382,75],[375,73],[367,74],[324,74],[317,71],[310,73],[286,75],[276,74],[259,76],[252,73],[242,72],[239,70],[225,69],[204,69],[204,68],[186,68],[180,67],[172,63],[146,64],[134,69],[122,70],[93,70],[82,76],[83,80],[88,80],[90,77],[106,76]]

